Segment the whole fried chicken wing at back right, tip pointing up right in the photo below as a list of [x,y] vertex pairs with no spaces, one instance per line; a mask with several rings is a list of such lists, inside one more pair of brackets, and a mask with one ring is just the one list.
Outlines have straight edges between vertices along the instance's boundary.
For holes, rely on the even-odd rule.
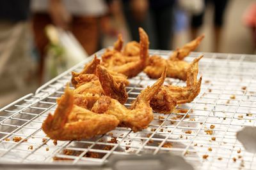
[[196,46],[200,44],[203,38],[204,35],[199,36],[181,49],[174,51],[170,59],[163,59],[159,55],[153,55],[148,59],[148,65],[144,69],[144,73],[146,73],[150,78],[159,78],[161,73],[163,73],[164,67],[166,66],[167,77],[178,78],[186,81],[189,63],[182,59],[189,55],[191,50],[194,50]]

